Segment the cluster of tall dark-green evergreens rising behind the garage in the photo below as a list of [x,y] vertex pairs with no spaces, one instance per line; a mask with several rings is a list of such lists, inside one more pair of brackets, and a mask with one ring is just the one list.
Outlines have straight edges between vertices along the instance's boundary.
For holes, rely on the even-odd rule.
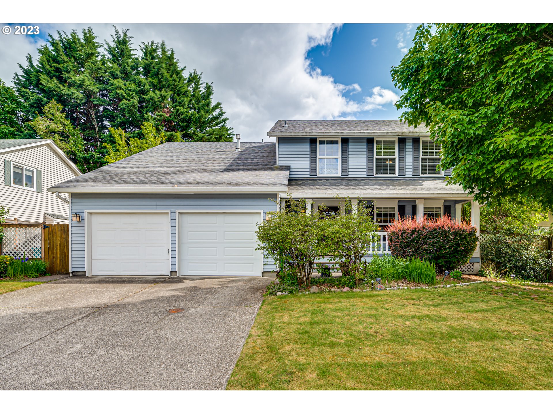
[[25,113],[43,114],[55,100],[79,130],[87,154],[86,170],[101,167],[107,147],[118,145],[109,129],[121,129],[142,139],[142,125],[152,124],[170,141],[232,141],[232,130],[220,102],[213,103],[213,87],[201,73],[184,75],[175,52],[160,43],[133,48],[128,30],[114,28],[110,41],[99,43],[91,28],[82,34],[49,35],[15,74],[15,91]]

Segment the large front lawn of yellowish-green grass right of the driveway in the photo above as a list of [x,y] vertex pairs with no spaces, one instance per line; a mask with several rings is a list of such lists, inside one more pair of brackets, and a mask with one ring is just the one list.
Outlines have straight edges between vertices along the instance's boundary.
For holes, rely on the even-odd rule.
[[231,390],[553,389],[553,288],[273,296]]

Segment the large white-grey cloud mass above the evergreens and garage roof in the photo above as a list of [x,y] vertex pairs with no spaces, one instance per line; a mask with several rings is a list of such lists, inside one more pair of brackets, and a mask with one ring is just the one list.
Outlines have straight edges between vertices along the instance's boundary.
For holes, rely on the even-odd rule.
[[[88,25],[50,25],[41,30],[55,33]],[[98,41],[111,39],[111,24],[91,24]],[[220,100],[228,124],[245,141],[267,138],[277,119],[352,118],[363,110],[383,109],[397,95],[380,87],[361,102],[346,97],[361,92],[357,83],[343,85],[323,75],[307,59],[307,51],[330,45],[339,25],[330,24],[117,24],[130,29],[134,47],[142,41],[165,40],[186,65],[196,68],[204,80],[213,82],[215,99]],[[9,83],[17,62],[24,55],[36,59],[36,47],[28,36],[10,36],[2,45],[0,77]],[[15,39],[19,38],[19,39]],[[17,41],[13,41],[17,40]]]

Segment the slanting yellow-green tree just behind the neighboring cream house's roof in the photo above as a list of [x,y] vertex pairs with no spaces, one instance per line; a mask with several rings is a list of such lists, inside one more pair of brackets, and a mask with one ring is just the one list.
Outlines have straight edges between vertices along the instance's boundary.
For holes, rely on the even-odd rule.
[[88,172],[87,160],[100,161],[100,155],[94,152],[95,147],[86,145],[81,131],[71,125],[62,106],[52,100],[43,108],[42,114],[29,123],[42,139],[53,140],[58,147],[73,161],[81,171]]

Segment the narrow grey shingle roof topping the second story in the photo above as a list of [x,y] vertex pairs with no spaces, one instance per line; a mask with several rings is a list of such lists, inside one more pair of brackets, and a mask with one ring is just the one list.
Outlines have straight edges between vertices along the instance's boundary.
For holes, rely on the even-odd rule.
[[429,131],[424,125],[413,128],[398,119],[332,119],[332,120],[284,120],[279,119],[273,128],[267,132],[269,136],[276,136],[280,132],[312,133],[326,132],[346,135],[347,132],[373,134],[378,132],[415,132],[425,134]]

